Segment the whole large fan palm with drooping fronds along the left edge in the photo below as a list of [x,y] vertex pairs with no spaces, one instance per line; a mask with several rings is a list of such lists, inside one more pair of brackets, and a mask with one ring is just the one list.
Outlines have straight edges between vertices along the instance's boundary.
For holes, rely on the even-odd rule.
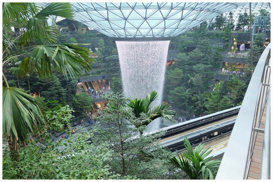
[[[38,73],[40,78],[52,78],[52,69],[62,72],[66,78],[83,75],[92,71],[94,59],[92,53],[80,47],[87,44],[58,44],[57,27],[49,26],[50,15],[73,19],[73,8],[70,3],[51,3],[47,7],[38,7],[35,3],[2,4],[2,65],[3,65],[3,136],[10,146],[12,157],[18,159],[18,144],[23,146],[34,132],[46,130],[45,114],[42,103],[35,97],[18,88],[9,87],[5,76],[5,65],[16,58],[24,57],[19,66],[21,76]],[[17,38],[14,29],[24,32]],[[17,47],[15,46],[17,42]]]

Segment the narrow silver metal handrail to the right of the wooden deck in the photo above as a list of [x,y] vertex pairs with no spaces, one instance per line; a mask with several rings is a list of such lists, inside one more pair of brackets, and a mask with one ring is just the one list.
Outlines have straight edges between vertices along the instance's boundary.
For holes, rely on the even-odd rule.
[[265,132],[261,158],[261,180],[270,180],[270,87],[265,115]]

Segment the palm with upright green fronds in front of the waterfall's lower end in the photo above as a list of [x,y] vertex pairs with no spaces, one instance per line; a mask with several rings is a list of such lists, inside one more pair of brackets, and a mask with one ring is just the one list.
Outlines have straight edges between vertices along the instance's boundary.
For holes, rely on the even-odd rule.
[[[141,125],[137,125],[136,128],[140,126],[147,126],[153,120],[163,117],[163,120],[167,122],[166,119],[170,122],[175,123],[173,116],[176,115],[174,110],[171,110],[171,106],[168,103],[162,103],[158,106],[155,106],[153,109],[150,107],[151,103],[156,100],[158,93],[153,90],[149,95],[147,94],[144,99],[133,99],[127,103],[127,106],[133,109],[133,113],[137,118],[140,118],[140,113],[145,113],[150,120],[143,122]],[[140,134],[143,134],[143,131],[140,131]]]

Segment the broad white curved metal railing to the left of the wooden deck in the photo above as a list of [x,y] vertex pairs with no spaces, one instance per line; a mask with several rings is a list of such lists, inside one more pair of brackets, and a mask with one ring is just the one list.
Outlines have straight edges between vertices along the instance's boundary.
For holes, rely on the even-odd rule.
[[215,178],[217,180],[247,178],[254,141],[257,132],[262,132],[261,129],[258,129],[258,126],[268,96],[270,46],[271,43],[268,44],[262,53],[248,85]]

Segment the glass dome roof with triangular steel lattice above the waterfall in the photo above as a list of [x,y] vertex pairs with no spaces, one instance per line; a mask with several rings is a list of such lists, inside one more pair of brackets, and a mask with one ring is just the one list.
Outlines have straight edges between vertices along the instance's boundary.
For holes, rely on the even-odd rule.
[[[47,5],[48,3],[39,3]],[[249,11],[249,3],[226,2],[73,2],[76,21],[114,38],[175,37],[217,15]],[[269,3],[251,3],[252,12],[270,11]]]

